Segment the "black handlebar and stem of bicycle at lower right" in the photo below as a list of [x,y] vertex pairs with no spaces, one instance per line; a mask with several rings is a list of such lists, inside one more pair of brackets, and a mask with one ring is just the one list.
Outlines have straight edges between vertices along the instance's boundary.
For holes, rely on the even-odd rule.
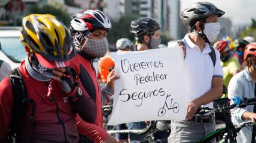
[[255,105],[256,104],[256,97],[251,98],[251,99],[244,99],[244,101],[237,105],[229,105],[229,106],[218,106],[217,108],[208,108],[208,107],[201,107],[199,108],[199,114],[204,114],[208,112],[218,112],[223,115],[224,122],[225,122],[225,127],[216,129],[212,133],[208,134],[207,136],[203,137],[199,141],[199,143],[205,143],[205,142],[211,142],[214,141],[215,139],[222,138],[223,136],[223,141],[224,142],[236,142],[236,136],[237,133],[244,128],[245,126],[252,126],[256,125],[256,123],[252,123],[251,121],[244,121],[242,123],[239,123],[237,125],[234,125],[233,122],[231,121],[231,113],[230,110],[233,108],[243,108],[246,107],[247,105]]

